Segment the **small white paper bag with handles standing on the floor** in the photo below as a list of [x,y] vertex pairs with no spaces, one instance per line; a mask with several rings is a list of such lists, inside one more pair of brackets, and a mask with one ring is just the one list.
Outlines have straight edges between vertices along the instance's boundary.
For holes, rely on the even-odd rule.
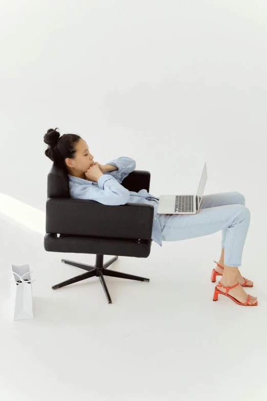
[[30,266],[11,265],[11,315],[13,320],[33,319],[32,283]]

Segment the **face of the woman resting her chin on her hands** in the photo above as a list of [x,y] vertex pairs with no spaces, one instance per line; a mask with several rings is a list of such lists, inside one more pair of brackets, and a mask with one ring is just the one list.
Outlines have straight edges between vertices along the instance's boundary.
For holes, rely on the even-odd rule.
[[94,156],[88,150],[87,143],[81,138],[76,143],[76,154],[74,159],[65,159],[70,174],[77,177],[84,176],[84,173],[94,164]]

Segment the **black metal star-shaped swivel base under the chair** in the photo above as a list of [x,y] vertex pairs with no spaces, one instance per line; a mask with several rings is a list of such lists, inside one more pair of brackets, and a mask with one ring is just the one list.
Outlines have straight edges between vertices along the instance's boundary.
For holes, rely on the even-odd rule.
[[96,264],[95,266],[85,265],[79,262],[73,262],[71,260],[61,259],[61,262],[79,267],[83,270],[87,270],[87,273],[82,273],[79,276],[75,276],[72,279],[62,281],[62,283],[56,284],[52,286],[52,289],[58,289],[60,287],[64,287],[69,284],[77,283],[78,281],[82,281],[85,279],[89,279],[91,277],[99,277],[99,280],[102,284],[103,290],[106,294],[107,302],[112,304],[112,300],[110,298],[104,276],[112,276],[112,277],[119,277],[121,279],[129,279],[129,280],[138,280],[138,281],[146,281],[149,282],[149,279],[139,276],[128,275],[127,273],[121,273],[119,271],[114,270],[106,270],[108,266],[110,266],[113,262],[118,259],[118,256],[110,259],[108,262],[103,264],[103,255],[96,255]]

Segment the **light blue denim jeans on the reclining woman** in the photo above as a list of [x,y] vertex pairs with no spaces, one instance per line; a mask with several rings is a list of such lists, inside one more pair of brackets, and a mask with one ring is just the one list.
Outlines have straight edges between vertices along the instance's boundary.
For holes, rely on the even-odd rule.
[[241,266],[242,251],[250,226],[250,210],[239,192],[203,196],[196,215],[161,215],[162,241],[181,241],[221,231],[225,265]]

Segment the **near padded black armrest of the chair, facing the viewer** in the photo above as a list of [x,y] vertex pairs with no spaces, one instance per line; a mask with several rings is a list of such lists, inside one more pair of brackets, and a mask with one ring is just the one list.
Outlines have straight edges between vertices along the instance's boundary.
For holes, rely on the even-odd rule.
[[150,204],[48,198],[46,233],[151,240],[153,213]]

